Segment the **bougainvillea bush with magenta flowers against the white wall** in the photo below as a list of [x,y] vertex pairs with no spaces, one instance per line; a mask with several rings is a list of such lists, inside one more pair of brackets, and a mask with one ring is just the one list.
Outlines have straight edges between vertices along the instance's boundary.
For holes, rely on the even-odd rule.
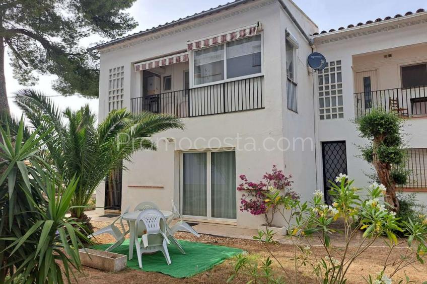
[[[246,175],[240,175],[242,183],[237,190],[244,192],[240,199],[240,211],[248,211],[252,215],[264,215],[265,224],[271,226],[274,215],[279,206],[283,205],[286,198],[298,200],[300,197],[292,191],[292,175],[284,175],[282,170],[278,170],[273,165],[271,172],[266,172],[262,176],[262,181],[248,181]],[[270,195],[274,198],[271,198]],[[269,198],[270,197],[270,198]]]

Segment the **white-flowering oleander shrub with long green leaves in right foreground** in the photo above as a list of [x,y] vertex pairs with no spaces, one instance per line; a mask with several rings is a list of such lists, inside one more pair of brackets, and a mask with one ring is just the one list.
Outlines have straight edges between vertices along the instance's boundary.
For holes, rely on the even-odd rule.
[[[369,275],[365,279],[369,284],[391,284],[395,274],[415,262],[424,263],[427,256],[427,218],[420,216],[421,221],[400,221],[396,213],[391,211],[390,206],[382,202],[387,188],[383,184],[373,183],[366,191],[352,186],[354,180],[349,180],[345,174],[339,174],[335,178],[338,183],[331,182],[329,194],[334,201],[332,205],[325,205],[323,193],[315,191],[310,202],[292,200],[289,196],[280,198],[284,208],[288,207],[290,216],[278,210],[283,220],[288,224],[289,240],[294,245],[294,273],[285,269],[284,263],[280,263],[269,249],[270,244],[275,244],[272,231],[259,231],[254,239],[264,242],[268,253],[279,262],[284,275],[268,274],[267,283],[277,283],[282,279],[289,282],[300,281],[303,276],[299,272],[302,266],[311,266],[316,276],[316,283],[322,284],[345,284],[346,273],[355,259],[371,247],[380,237],[386,237],[389,253],[384,260],[382,270],[376,276]],[[268,205],[273,201],[276,193],[269,193]],[[334,223],[338,218],[343,220],[342,237],[343,247],[335,247],[330,239],[331,234],[336,233]],[[398,239],[395,232],[402,232],[405,239]],[[323,246],[319,255],[311,249],[310,237],[318,238]],[[309,246],[306,246],[306,243]],[[396,247],[406,246],[404,254],[400,254],[399,261],[390,257]],[[351,247],[351,248],[350,248]],[[244,259],[242,260],[244,261]],[[267,269],[264,265],[260,269]],[[238,267],[235,275],[239,274]],[[387,275],[385,271],[387,269]],[[253,271],[256,271],[254,269]],[[269,271],[269,270],[268,270]],[[304,276],[303,276],[304,277]],[[252,277],[253,279],[253,277]],[[406,282],[410,282],[406,276]],[[401,282],[399,282],[401,283]]]

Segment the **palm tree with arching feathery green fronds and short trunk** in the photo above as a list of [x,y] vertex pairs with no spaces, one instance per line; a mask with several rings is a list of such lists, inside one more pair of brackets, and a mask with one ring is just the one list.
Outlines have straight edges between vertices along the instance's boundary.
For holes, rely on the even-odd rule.
[[[126,109],[113,110],[96,126],[96,117],[86,105],[78,111],[61,112],[43,93],[33,89],[17,92],[15,101],[34,129],[44,132],[48,159],[64,182],[78,178],[72,206],[86,206],[109,171],[139,150],[156,150],[149,139],[164,130],[183,129],[180,119],[167,114]],[[73,217],[88,221],[84,208],[72,208]]]

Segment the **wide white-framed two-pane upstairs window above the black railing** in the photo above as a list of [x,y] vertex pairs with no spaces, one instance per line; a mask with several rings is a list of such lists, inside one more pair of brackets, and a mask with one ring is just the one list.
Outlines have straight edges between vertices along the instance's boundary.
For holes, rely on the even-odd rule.
[[261,35],[193,52],[193,86],[262,73]]

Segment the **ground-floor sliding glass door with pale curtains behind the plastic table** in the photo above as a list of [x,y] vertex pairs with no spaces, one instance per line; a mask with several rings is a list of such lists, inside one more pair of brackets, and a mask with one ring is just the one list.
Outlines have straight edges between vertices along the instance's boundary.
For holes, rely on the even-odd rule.
[[234,151],[182,154],[182,213],[207,219],[236,219]]

